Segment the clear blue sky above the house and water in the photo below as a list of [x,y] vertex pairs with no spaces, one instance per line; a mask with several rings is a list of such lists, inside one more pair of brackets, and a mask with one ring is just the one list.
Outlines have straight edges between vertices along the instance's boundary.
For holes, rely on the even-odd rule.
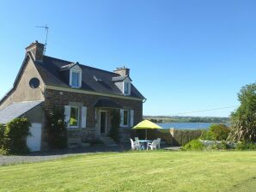
[[[0,97],[15,81],[25,47],[113,70],[131,69],[147,98],[144,115],[229,117],[256,79],[256,1],[81,0],[0,2]],[[204,111],[188,113],[189,111]]]

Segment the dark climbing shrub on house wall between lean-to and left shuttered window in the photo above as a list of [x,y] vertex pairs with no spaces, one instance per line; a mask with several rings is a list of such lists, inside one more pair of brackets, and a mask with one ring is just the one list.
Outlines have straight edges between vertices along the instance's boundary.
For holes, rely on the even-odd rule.
[[51,148],[65,148],[68,145],[67,124],[64,122],[64,109],[53,107],[46,113],[48,142]]

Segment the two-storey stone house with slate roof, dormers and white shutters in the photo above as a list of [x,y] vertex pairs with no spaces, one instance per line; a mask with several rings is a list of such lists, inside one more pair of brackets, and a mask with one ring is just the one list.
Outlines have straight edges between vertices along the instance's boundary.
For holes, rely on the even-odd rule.
[[26,55],[14,86],[0,100],[0,123],[27,117],[33,137],[32,151],[47,150],[46,114],[53,106],[64,109],[69,141],[113,141],[111,111],[120,111],[120,136],[128,141],[130,129],[143,118],[145,98],[131,83],[130,69],[113,72],[44,55],[44,45],[35,41]]

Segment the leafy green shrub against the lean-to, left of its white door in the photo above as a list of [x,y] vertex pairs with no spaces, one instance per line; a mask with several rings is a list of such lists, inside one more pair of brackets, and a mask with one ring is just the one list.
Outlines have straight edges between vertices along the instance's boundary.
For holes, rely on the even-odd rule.
[[31,123],[27,118],[15,118],[6,124],[3,134],[2,153],[22,154],[28,153],[27,136],[30,135]]

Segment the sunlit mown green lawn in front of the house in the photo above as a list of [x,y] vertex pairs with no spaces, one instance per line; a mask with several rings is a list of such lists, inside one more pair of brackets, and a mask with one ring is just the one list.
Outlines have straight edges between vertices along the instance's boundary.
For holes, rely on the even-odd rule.
[[0,167],[0,191],[255,191],[256,152],[101,153]]

